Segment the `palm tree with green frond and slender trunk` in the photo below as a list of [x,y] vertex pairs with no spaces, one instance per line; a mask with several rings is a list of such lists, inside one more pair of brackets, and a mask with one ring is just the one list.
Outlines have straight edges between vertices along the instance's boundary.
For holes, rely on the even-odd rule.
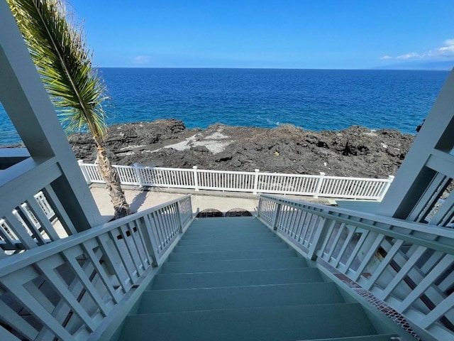
[[131,214],[103,146],[106,87],[92,67],[82,28],[70,22],[62,0],[7,0],[46,90],[68,131],[87,128],[98,151],[99,171],[114,205],[115,217]]

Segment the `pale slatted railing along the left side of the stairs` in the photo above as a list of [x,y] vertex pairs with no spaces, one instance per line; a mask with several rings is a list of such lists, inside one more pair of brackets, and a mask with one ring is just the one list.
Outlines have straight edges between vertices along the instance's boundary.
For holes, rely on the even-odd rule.
[[187,195],[1,259],[1,340],[87,340],[191,221]]

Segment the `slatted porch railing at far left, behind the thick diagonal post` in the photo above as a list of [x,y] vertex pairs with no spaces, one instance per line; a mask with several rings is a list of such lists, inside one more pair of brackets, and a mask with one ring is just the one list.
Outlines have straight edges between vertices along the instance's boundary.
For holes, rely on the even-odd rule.
[[65,207],[50,185],[62,176],[55,158],[27,158],[1,175],[0,259],[77,233],[74,207]]

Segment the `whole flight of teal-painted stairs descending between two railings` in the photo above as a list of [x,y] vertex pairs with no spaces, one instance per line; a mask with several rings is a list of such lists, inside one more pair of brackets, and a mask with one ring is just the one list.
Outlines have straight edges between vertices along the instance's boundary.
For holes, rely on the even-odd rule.
[[119,340],[389,341],[359,303],[252,217],[195,220]]

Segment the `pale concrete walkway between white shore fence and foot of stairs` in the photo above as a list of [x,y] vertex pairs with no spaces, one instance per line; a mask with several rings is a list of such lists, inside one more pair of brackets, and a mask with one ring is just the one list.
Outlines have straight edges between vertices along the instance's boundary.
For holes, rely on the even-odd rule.
[[[109,193],[104,188],[104,185],[90,186],[92,195],[98,205],[101,215],[111,218],[114,215],[111,198]],[[179,189],[162,189],[162,188],[147,188],[146,190],[136,188],[133,186],[123,186],[126,195],[126,200],[131,205],[133,212],[147,210],[150,207],[160,205],[164,202],[177,199],[183,195],[191,194],[192,210],[195,212],[207,209],[219,210],[226,213],[228,210],[241,208],[248,210],[254,214],[258,207],[258,195],[252,193],[240,192],[218,192],[214,190],[179,190]],[[328,200],[324,198],[314,199],[314,197],[304,197],[297,195],[286,195],[288,198],[296,200],[304,200],[311,202],[319,202],[321,204],[328,204]]]

